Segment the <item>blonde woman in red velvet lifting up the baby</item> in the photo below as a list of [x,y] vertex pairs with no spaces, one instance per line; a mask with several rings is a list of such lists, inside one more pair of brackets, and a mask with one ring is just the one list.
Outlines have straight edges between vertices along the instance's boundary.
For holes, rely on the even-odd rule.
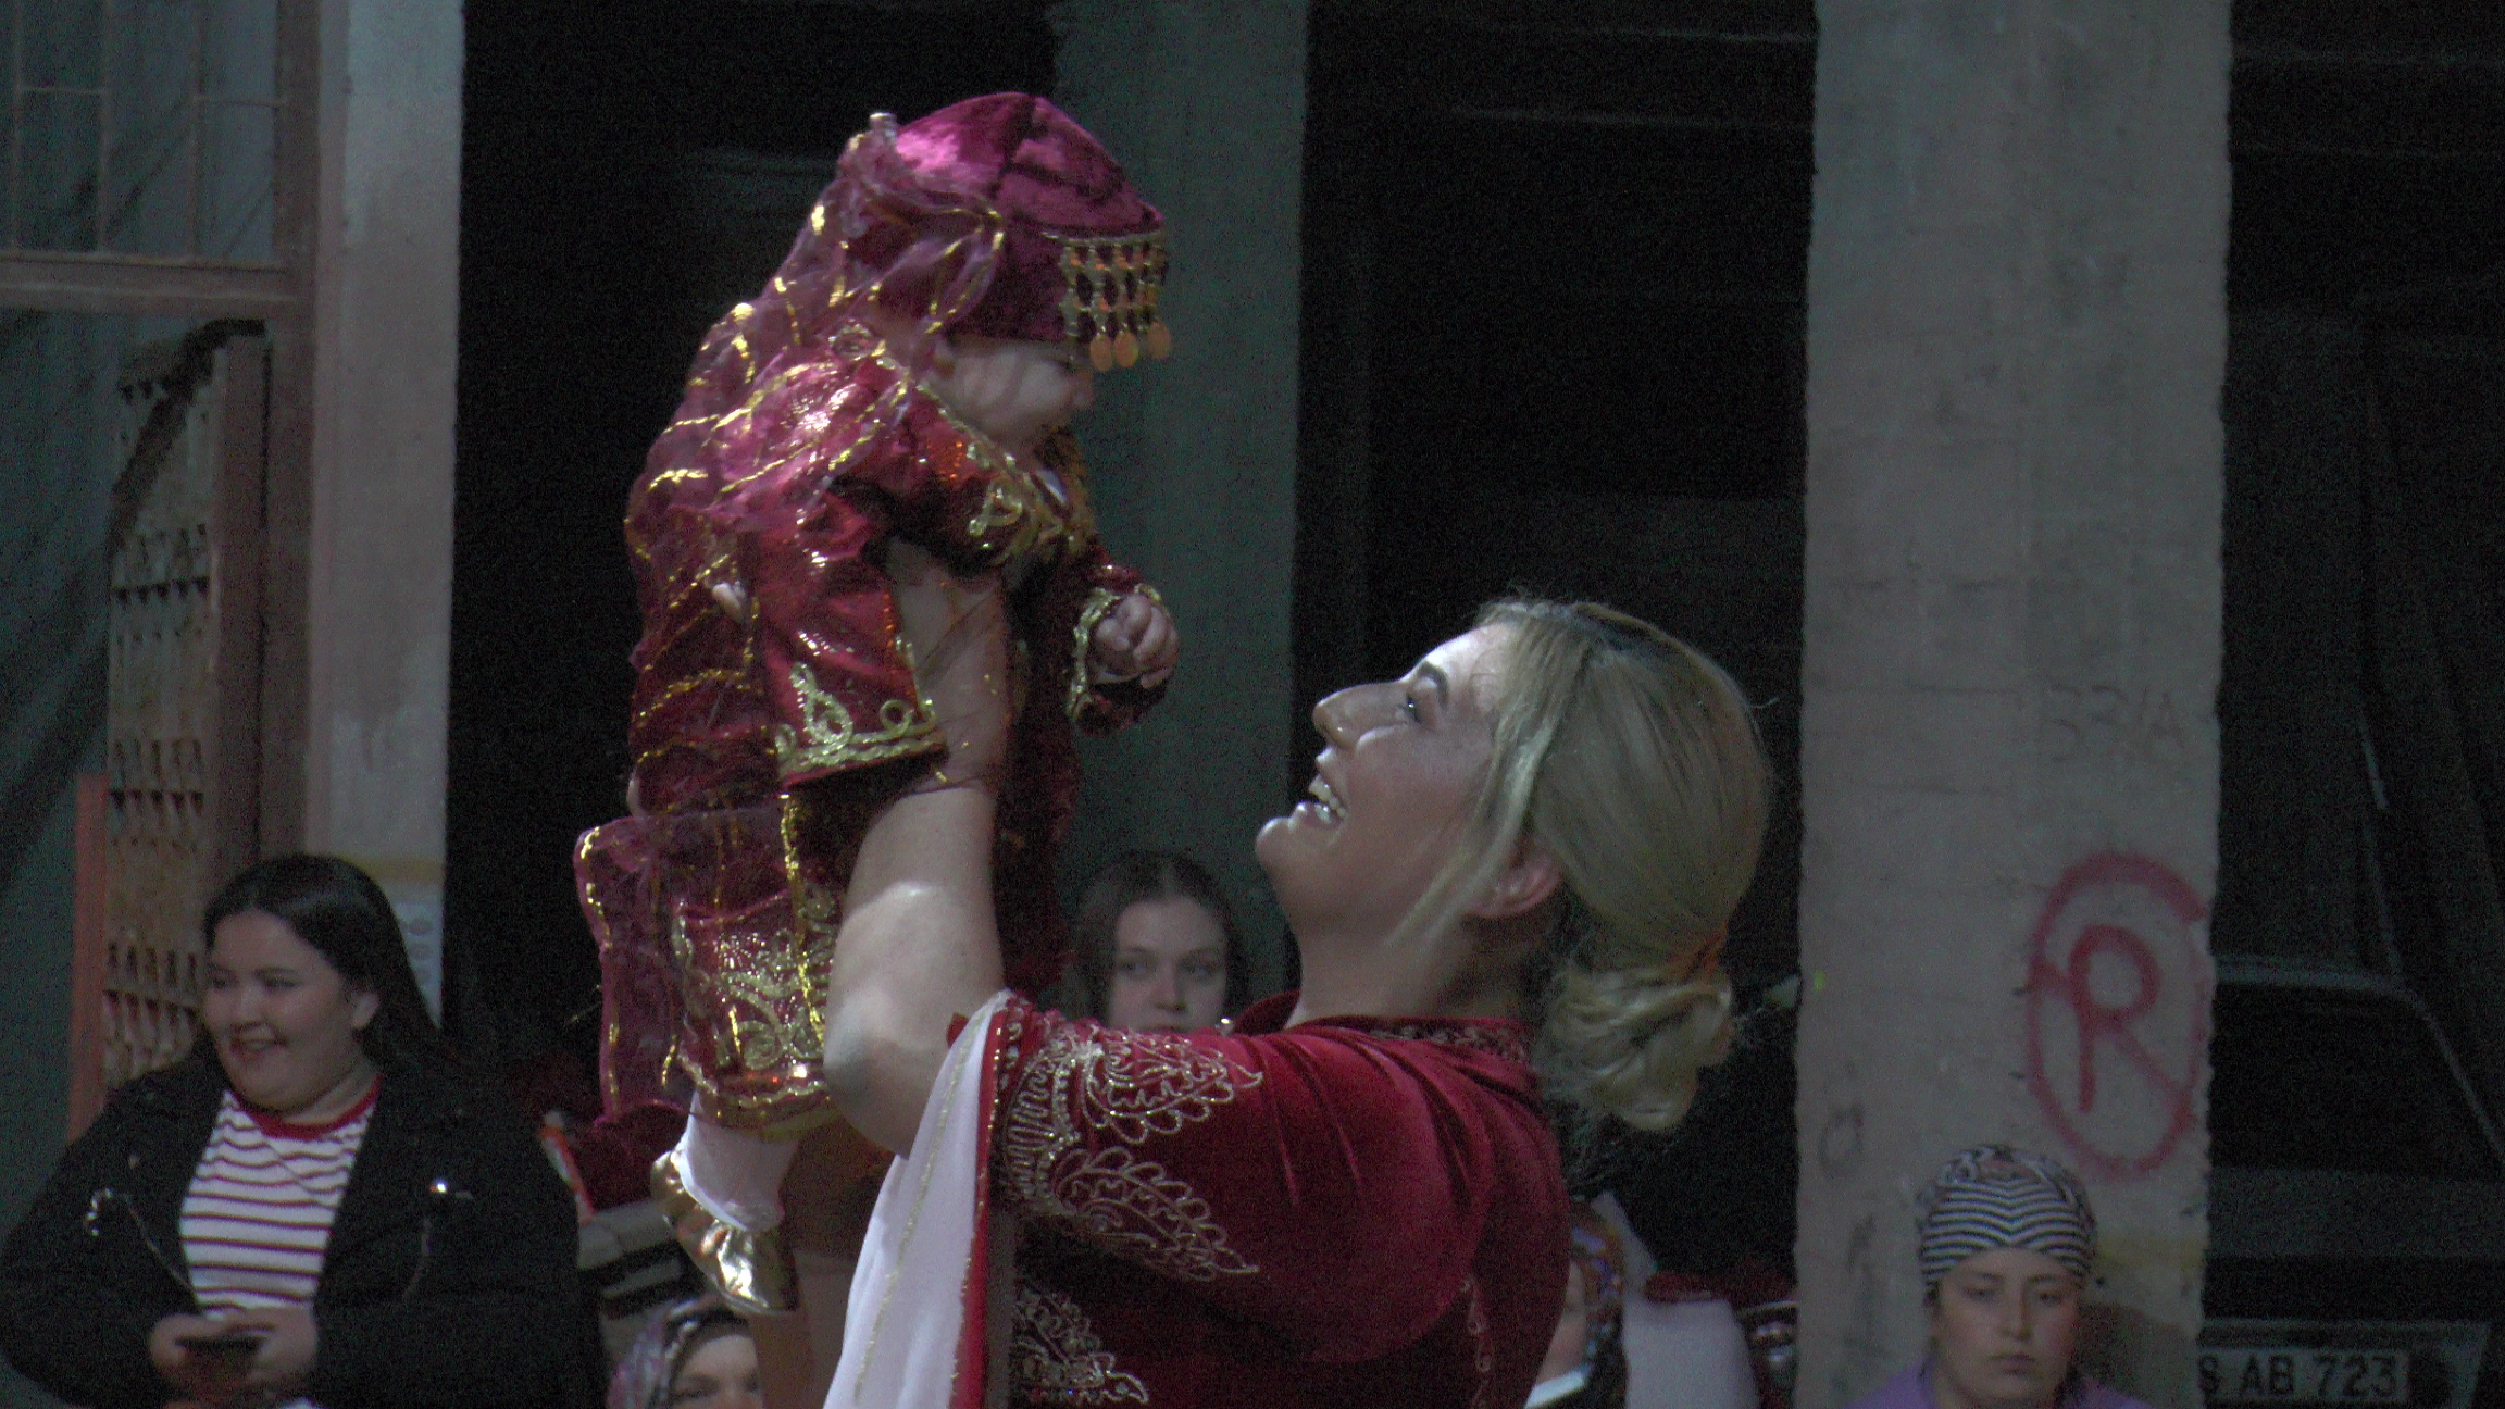
[[829,1404],[1523,1404],[1566,1284],[1543,1098],[1661,1128],[1726,1040],[1769,787],[1731,679],[1500,602],[1323,699],[1313,797],[1258,840],[1303,993],[1120,1033],[999,993],[999,597],[892,567],[952,757],[869,830],[837,943],[832,1091],[904,1158]]

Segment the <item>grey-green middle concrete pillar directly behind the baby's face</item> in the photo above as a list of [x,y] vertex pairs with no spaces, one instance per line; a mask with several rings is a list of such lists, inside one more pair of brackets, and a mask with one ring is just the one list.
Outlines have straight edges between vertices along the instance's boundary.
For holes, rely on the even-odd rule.
[[[1280,973],[1252,832],[1285,805],[1295,562],[1305,5],[1070,0],[1057,93],[1165,211],[1175,356],[1097,381],[1080,424],[1097,519],[1182,624],[1157,712],[1090,745],[1072,883],[1125,847],[1185,850]],[[1308,702],[1310,704],[1310,702]]]

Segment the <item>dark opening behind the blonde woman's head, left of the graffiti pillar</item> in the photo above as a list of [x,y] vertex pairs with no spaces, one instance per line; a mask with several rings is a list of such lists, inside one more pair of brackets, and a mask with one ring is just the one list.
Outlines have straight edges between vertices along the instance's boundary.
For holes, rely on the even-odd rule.
[[[1698,644],[1781,775],[1743,998],[1799,958],[1814,63],[1806,0],[1313,8],[1295,694],[1400,674],[1508,589]],[[1671,1148],[1593,1173],[1666,1266],[1791,1259],[1766,1018]]]

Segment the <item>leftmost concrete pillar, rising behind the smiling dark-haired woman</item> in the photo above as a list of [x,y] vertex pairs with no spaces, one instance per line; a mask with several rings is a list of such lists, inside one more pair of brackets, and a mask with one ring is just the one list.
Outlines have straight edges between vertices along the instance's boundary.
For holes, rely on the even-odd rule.
[[[391,893],[441,993],[461,8],[323,0],[303,847]],[[491,624],[481,624],[493,629]]]

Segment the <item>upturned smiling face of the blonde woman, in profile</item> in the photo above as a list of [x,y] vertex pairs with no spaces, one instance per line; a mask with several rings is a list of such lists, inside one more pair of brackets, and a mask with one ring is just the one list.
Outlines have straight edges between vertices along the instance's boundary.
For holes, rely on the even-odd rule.
[[1400,679],[1355,684],[1313,707],[1323,732],[1313,800],[1255,842],[1298,940],[1390,933],[1468,835],[1493,752],[1508,627],[1478,627]]

